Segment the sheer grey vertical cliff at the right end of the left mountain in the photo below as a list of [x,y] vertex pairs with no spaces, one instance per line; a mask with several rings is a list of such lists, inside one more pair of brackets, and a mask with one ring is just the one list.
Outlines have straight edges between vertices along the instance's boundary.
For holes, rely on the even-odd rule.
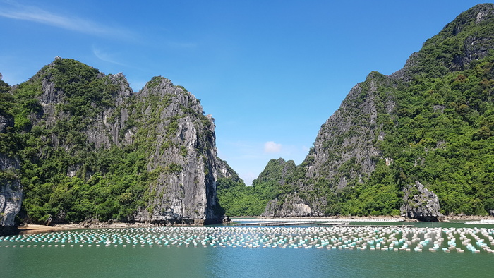
[[[154,97],[156,104],[150,102]],[[198,99],[166,78],[153,78],[136,95],[136,101],[144,104],[132,111],[138,122],[159,119],[154,134],[148,134],[156,140],[150,145],[153,152],[147,170],[162,169],[151,185],[154,194],[162,198],[150,200],[134,219],[219,222],[222,215],[216,211],[215,173],[224,162],[217,160],[212,116],[203,116]],[[156,111],[160,113],[153,116]]]

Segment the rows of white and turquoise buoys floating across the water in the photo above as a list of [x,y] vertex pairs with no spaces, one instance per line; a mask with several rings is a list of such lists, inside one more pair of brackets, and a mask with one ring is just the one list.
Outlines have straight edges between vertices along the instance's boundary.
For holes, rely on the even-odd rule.
[[147,227],[87,229],[0,237],[17,247],[231,247],[325,248],[494,253],[494,229],[313,227]]

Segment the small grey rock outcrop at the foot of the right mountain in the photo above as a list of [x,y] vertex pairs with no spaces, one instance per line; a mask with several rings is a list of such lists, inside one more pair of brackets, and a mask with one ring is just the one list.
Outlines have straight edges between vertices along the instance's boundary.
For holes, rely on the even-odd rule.
[[438,195],[429,191],[418,181],[404,188],[404,205],[400,208],[403,217],[418,221],[438,222],[443,218]]

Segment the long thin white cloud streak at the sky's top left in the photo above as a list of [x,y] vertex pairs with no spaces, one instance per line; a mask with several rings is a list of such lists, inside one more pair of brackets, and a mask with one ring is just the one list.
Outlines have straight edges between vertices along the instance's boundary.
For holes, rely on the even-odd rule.
[[89,35],[112,36],[120,38],[131,37],[131,33],[121,28],[112,28],[76,16],[61,16],[56,13],[45,11],[35,6],[26,6],[13,4],[11,7],[1,7],[0,16],[4,18],[13,18],[17,20],[27,20],[46,25],[52,25],[57,28],[83,32]]

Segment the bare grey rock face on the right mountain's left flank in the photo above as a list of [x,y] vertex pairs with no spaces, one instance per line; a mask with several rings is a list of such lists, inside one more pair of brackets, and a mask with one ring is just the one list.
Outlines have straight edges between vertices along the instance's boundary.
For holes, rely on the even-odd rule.
[[[394,83],[380,73],[351,89],[339,109],[321,126],[314,147],[298,169],[293,192],[273,200],[263,215],[325,216],[328,200],[321,188],[338,191],[367,179],[383,159],[379,142],[392,119]],[[303,175],[303,176],[302,176]]]

